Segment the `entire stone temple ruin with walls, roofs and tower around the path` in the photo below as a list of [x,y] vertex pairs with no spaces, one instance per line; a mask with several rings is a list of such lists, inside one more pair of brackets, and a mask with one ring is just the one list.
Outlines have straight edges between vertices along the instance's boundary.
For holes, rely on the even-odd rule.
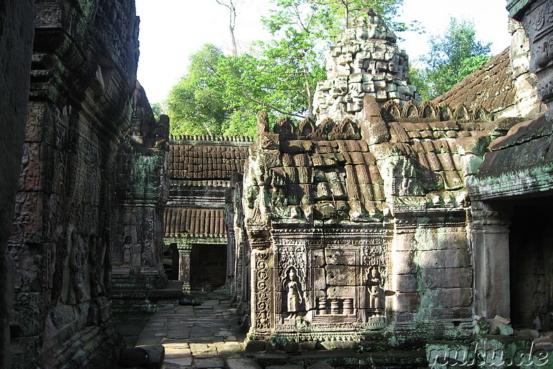
[[154,119],[133,1],[1,4],[0,366],[104,368],[114,316],[210,290],[246,350],[553,350],[553,3],[507,10],[512,46],[423,104],[366,11],[317,120],[252,140]]

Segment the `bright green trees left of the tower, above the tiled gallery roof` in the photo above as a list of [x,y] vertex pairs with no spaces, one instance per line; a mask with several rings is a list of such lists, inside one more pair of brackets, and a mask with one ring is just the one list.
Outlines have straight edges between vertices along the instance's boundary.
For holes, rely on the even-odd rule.
[[171,133],[254,136],[260,110],[272,120],[314,117],[315,88],[326,79],[324,55],[346,23],[339,19],[366,7],[391,17],[402,2],[272,0],[270,17],[262,19],[271,41],[254,43],[250,54],[223,55],[204,45],[191,55],[187,74],[166,102]]

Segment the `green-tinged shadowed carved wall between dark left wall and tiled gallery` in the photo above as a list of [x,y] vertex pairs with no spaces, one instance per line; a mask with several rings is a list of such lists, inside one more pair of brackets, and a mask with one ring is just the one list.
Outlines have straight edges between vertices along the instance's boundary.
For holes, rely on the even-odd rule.
[[148,291],[167,283],[163,268],[163,211],[169,197],[169,117],[156,122],[137,82],[131,128],[116,159],[111,280],[114,310],[155,311]]

